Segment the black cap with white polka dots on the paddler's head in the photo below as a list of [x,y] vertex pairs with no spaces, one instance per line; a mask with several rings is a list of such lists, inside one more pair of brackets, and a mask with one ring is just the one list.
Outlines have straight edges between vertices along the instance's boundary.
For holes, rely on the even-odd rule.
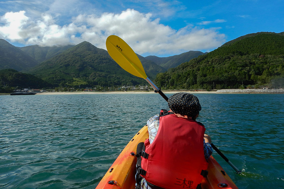
[[169,108],[176,114],[196,116],[201,110],[201,105],[196,96],[190,93],[176,93],[169,97]]

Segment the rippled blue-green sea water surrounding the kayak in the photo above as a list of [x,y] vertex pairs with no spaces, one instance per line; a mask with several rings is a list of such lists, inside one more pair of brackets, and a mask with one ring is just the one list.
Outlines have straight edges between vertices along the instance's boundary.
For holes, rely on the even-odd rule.
[[[168,97],[171,94],[166,94]],[[284,94],[196,94],[198,121],[239,188],[284,186]],[[0,96],[0,188],[95,188],[159,94]]]

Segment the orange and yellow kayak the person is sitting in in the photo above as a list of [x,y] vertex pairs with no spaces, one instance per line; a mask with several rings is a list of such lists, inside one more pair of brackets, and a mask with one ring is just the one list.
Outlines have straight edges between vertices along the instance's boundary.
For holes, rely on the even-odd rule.
[[[147,138],[149,134],[146,125],[125,146],[96,189],[135,189],[137,144]],[[208,175],[201,182],[202,189],[238,188],[213,156],[208,158],[208,163]]]

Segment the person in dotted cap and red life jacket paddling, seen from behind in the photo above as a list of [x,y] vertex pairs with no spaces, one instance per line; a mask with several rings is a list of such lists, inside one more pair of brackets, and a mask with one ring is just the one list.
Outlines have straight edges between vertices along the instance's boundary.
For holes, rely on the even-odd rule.
[[168,106],[169,111],[161,110],[147,121],[149,139],[137,146],[137,189],[201,188],[207,176],[211,138],[196,122],[198,98],[176,93]]

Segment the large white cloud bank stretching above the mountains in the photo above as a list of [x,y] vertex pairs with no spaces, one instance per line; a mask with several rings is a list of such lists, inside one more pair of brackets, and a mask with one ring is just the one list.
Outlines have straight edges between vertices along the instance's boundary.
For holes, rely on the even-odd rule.
[[[212,49],[225,42],[225,35],[218,33],[218,28],[203,29],[188,25],[177,31],[160,24],[159,19],[153,20],[152,14],[143,14],[134,9],[119,14],[80,14],[63,26],[47,13],[32,19],[25,15],[25,11],[10,12],[0,19],[0,37],[26,45],[51,46],[88,41],[105,49],[106,38],[118,35],[136,53],[170,54]],[[218,19],[213,22],[225,21]]]

